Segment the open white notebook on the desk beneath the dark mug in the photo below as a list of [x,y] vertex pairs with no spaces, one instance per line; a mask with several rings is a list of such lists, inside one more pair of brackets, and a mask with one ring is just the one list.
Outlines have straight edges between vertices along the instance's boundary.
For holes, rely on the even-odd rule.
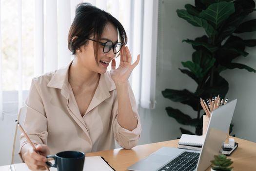
[[[30,171],[25,163],[12,165],[13,171]],[[50,168],[50,171],[57,171],[57,168]],[[113,171],[113,169],[100,157],[85,157],[83,171]]]

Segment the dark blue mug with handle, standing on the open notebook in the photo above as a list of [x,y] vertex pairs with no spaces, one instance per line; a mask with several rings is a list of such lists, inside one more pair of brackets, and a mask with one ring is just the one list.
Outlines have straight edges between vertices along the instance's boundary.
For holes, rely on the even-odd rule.
[[82,171],[85,154],[80,151],[61,151],[55,155],[47,155],[46,158],[54,159],[54,164],[46,164],[57,168],[58,171]]

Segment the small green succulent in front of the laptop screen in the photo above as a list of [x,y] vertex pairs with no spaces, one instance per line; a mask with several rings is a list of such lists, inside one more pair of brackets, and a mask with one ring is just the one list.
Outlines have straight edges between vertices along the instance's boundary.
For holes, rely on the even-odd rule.
[[228,159],[224,154],[214,156],[214,160],[211,161],[211,171],[232,171],[233,167],[231,159]]

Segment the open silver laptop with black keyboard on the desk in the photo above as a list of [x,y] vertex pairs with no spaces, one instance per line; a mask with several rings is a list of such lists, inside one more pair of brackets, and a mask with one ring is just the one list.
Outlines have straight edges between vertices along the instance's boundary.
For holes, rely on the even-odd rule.
[[235,111],[236,100],[211,114],[201,151],[162,147],[128,167],[130,171],[205,171],[218,155]]

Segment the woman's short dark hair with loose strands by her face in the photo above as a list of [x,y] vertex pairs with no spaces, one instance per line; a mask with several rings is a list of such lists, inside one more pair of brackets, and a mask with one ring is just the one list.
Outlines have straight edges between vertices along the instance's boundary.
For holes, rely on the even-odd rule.
[[[85,45],[91,35],[99,41],[107,23],[112,23],[118,29],[119,41],[127,43],[127,36],[122,24],[111,14],[92,6],[90,3],[79,3],[76,9],[76,16],[71,24],[68,34],[68,48],[72,54],[76,54],[76,49]],[[77,39],[72,39],[77,36]],[[97,60],[98,43],[94,42],[94,54]]]

